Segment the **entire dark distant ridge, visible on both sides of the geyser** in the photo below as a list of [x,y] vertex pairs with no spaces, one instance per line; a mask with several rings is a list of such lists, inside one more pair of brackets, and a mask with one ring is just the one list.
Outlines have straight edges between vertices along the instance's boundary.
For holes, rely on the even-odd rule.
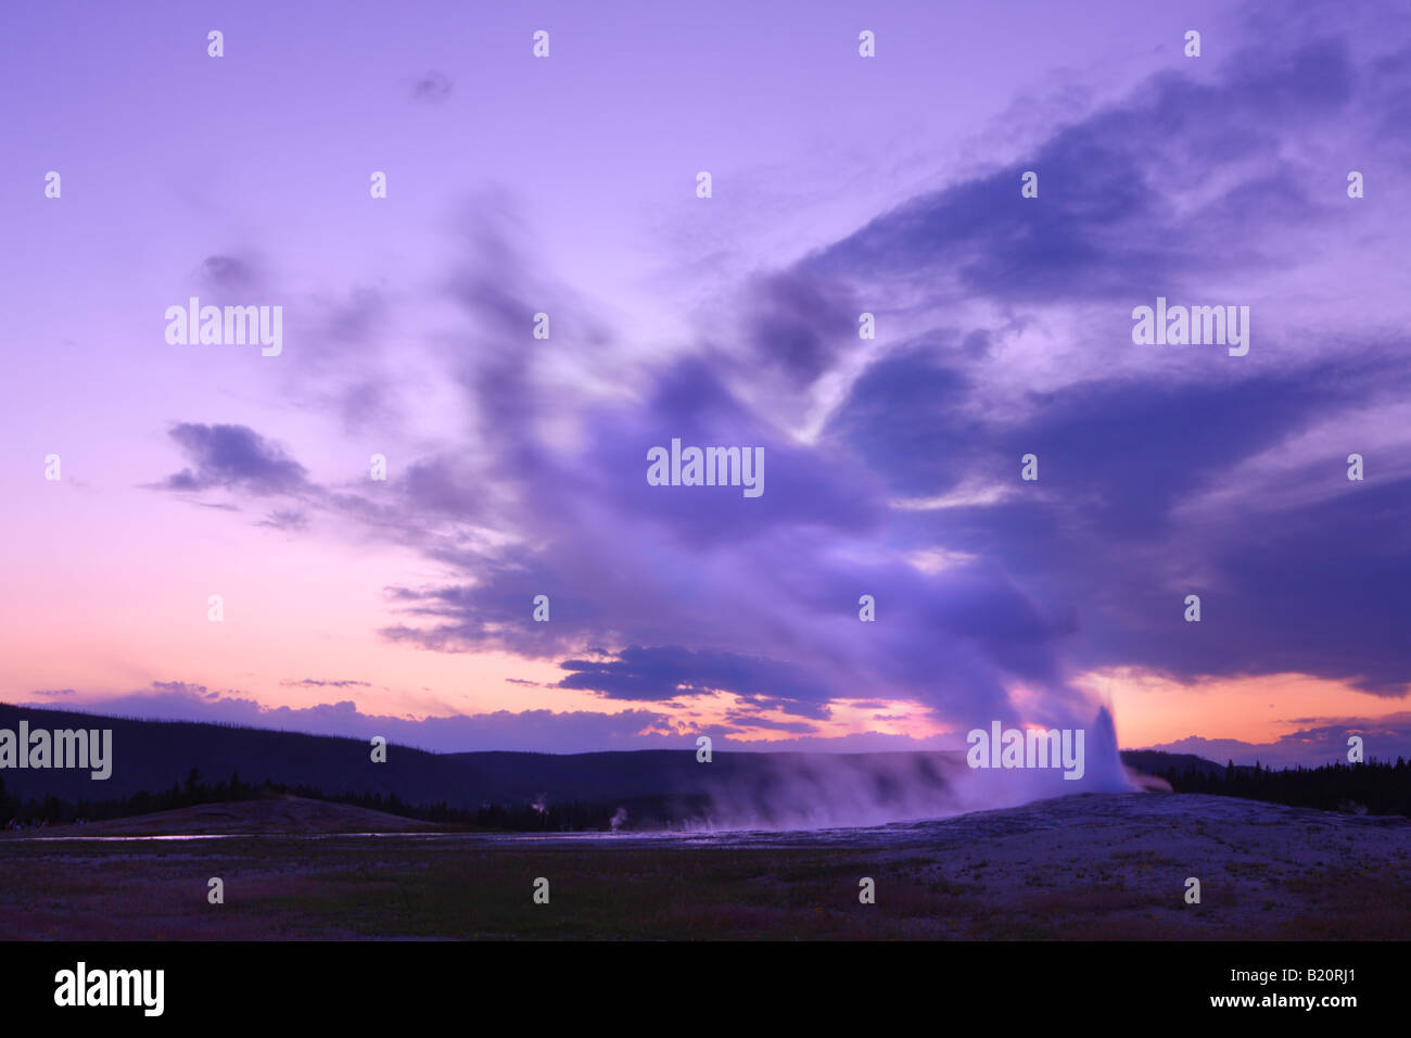
[[[964,753],[715,753],[694,747],[617,753],[428,753],[391,746],[371,760],[361,739],[196,722],[100,717],[0,703],[0,727],[111,729],[111,777],[87,770],[0,771],[0,823],[110,819],[206,802],[295,794],[481,829],[828,828],[938,818],[957,799]],[[1268,771],[1192,754],[1129,750],[1147,788],[1221,794],[1324,811],[1411,815],[1411,765]]]

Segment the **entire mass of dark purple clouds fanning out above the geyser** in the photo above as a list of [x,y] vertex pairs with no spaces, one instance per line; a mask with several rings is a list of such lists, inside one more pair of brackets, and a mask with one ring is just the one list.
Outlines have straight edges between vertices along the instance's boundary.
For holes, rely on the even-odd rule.
[[[1404,85],[1408,68],[1387,75]],[[460,321],[440,359],[466,428],[406,459],[377,510],[339,500],[453,575],[389,589],[402,623],[384,634],[552,660],[569,672],[560,688],[619,700],[728,692],[744,699],[732,724],[769,710],[820,719],[855,698],[988,723],[1016,716],[1016,684],[1037,693],[1026,719],[1085,722],[1071,676],[1115,664],[1292,669],[1400,693],[1411,487],[1343,480],[1277,508],[1239,493],[1192,507],[1316,422],[1404,398],[1404,342],[1309,329],[1307,342],[1260,339],[1277,366],[1173,377],[1123,353],[1043,390],[1023,370],[1019,388],[996,378],[1036,314],[1081,316],[1072,335],[1101,356],[1129,345],[1137,302],[1297,268],[1307,257],[1287,234],[1343,217],[1326,171],[1290,145],[1309,124],[1376,123],[1398,97],[1335,38],[1249,51],[1209,79],[1164,73],[1023,161],[752,280],[724,308],[739,342],[667,345],[612,397],[546,377],[557,315],[580,322],[574,350],[602,340],[600,323],[535,270],[501,208],[480,206],[437,299]],[[1033,202],[1019,196],[1030,168]],[[892,304],[921,305],[937,330],[880,349],[821,435],[797,435],[796,397],[851,360],[861,309]],[[951,312],[979,304],[991,321]],[[531,339],[540,309],[556,322],[543,345]],[[350,316],[349,335],[375,316]],[[351,398],[377,405],[373,391]],[[545,435],[559,419],[574,425],[567,445]],[[169,489],[306,487],[243,426],[181,428],[198,431],[182,442],[193,467]],[[646,451],[673,438],[763,448],[763,497],[649,486]],[[1037,484],[1019,480],[1029,452]],[[1340,476],[1336,456],[1305,462]],[[974,486],[996,493],[893,507]],[[957,561],[913,562],[933,549]],[[1188,592],[1205,597],[1201,624],[1181,621]],[[550,623],[532,620],[536,595]],[[861,595],[876,597],[876,623],[858,620]]]

